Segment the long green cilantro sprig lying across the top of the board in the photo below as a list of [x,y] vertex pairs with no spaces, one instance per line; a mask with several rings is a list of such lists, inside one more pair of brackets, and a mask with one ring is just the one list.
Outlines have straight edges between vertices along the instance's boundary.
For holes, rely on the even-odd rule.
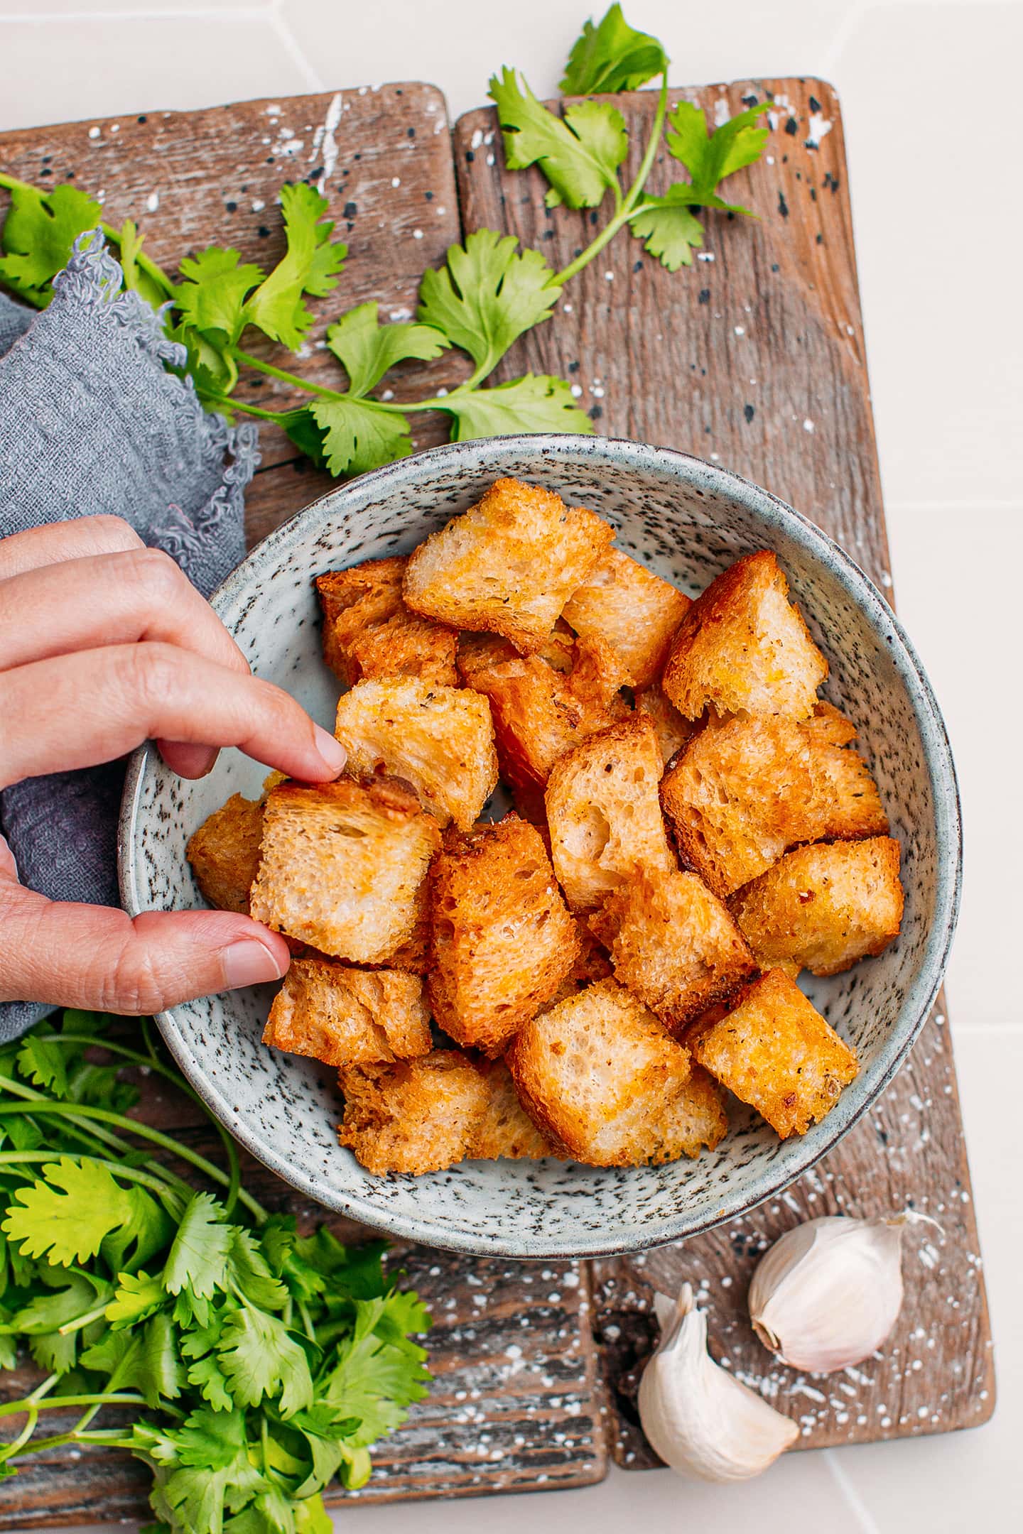
[[[138,227],[101,222],[101,207],[75,187],[41,192],[0,173],[11,207],[0,235],[0,284],[37,307],[52,293],[74,241],[100,227],[121,258],[124,285],[161,308],[167,333],[186,348],[184,371],[210,410],[241,413],[281,426],[301,453],[334,476],[367,469],[413,451],[414,416],[448,417],[452,440],[515,431],[594,430],[558,377],[526,374],[489,384],[509,347],[554,313],[564,287],[621,232],[640,239],[669,272],[692,265],[702,244],[696,210],[745,215],[725,201],[721,184],[762,153],[767,130],[753,106],[710,130],[704,114],[679,101],[669,115],[669,58],[663,43],[626,21],[612,5],[600,23],[586,21],[561,80],[560,112],[537,100],[518,71],[503,66],[489,97],[511,170],[535,166],[548,183],[549,207],[606,210],[603,227],[560,272],[538,250],[520,250],[514,236],[482,229],[452,245],[443,265],[423,273],[414,324],[382,325],[374,304],[359,304],[327,330],[327,350],[344,370],[347,387],[313,384],[252,350],[250,336],[301,351],[313,324],[310,298],[337,287],[347,247],[334,241],[327,199],[313,186],[281,189],[287,238],[282,259],[270,272],[245,262],[232,249],[210,247],[186,256],[176,278],[143,250]],[[660,81],[656,114],[630,183],[623,179],[629,130],[613,101],[592,100]],[[583,98],[583,100],[578,100]],[[646,187],[658,152],[676,161],[689,179],[661,195]],[[454,348],[472,362],[465,384],[422,399],[396,400],[385,387],[399,364],[429,362]],[[236,394],[245,371],[262,373],[308,396],[302,405],[265,410]]]

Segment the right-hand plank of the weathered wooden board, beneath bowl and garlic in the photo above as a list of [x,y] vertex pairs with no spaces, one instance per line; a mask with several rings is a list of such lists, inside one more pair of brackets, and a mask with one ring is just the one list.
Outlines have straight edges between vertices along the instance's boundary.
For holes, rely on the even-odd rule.
[[[817,80],[738,81],[679,98],[712,120],[718,103],[735,114],[773,101],[764,160],[730,183],[761,221],[707,215],[704,249],[678,273],[638,241],[617,239],[566,288],[557,316],[517,344],[503,374],[572,377],[598,431],[683,448],[765,485],[891,591],[839,101]],[[653,94],[617,103],[638,163]],[[454,150],[466,230],[506,229],[555,267],[592,238],[587,213],[544,209],[537,173],[503,170],[492,112],[463,117]],[[663,156],[650,189],[663,192],[673,172]],[[745,1310],[756,1258],[813,1215],[906,1207],[943,1229],[905,1238],[906,1301],[882,1356],[830,1379],[773,1368]],[[781,1200],[594,1270],[623,1465],[658,1463],[638,1428],[636,1370],[655,1341],[653,1290],[675,1293],[683,1279],[702,1292],[715,1356],[799,1420],[804,1448],[985,1422],[991,1330],[943,1003],[883,1101]]]

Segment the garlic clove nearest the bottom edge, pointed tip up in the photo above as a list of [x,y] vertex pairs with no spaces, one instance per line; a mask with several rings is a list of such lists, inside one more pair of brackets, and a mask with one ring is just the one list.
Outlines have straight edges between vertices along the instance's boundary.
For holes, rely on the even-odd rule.
[[707,1353],[707,1318],[683,1284],[656,1304],[661,1341],[640,1381],[640,1422],[666,1465],[699,1480],[759,1476],[799,1436]]

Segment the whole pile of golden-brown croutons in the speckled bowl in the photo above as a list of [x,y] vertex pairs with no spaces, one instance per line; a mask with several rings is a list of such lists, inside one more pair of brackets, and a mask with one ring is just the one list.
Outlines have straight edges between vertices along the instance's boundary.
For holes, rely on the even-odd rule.
[[[339,1071],[373,1174],[696,1157],[729,1094],[805,1134],[856,1052],[796,985],[879,954],[899,844],[768,551],[695,601],[595,512],[492,485],[316,580],[345,776],[195,833],[285,934],[264,1040]],[[515,813],[482,819],[498,781]]]

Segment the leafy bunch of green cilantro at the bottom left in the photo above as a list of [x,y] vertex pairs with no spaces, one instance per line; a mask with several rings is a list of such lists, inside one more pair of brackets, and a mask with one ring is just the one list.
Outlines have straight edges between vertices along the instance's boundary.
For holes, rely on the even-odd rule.
[[[43,1373],[0,1405],[0,1477],[117,1448],[152,1471],[152,1534],[330,1534],[322,1490],[363,1485],[426,1393],[429,1316],[382,1243],[268,1213],[219,1127],[225,1164],[129,1118],[129,1066],[196,1100],[112,1023],[67,1011],[0,1048],[0,1368]],[[46,1433],[54,1411],[77,1420]]]

